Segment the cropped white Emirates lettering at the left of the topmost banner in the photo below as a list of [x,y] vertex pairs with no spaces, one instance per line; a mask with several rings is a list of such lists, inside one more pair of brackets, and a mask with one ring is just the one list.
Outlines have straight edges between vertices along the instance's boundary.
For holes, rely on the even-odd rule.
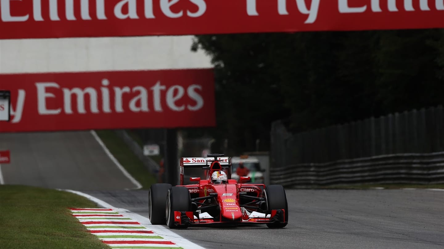
[[[159,4],[162,14],[169,18],[199,17],[206,12],[205,0],[186,0],[189,4],[186,5],[186,9],[181,10],[174,7],[174,4],[179,1],[181,0],[121,0],[110,6],[113,3],[109,0],[64,0],[62,9],[59,6],[62,0],[24,0],[22,3],[16,3],[16,0],[0,0],[0,8],[3,22],[26,22],[30,19],[34,21],[107,20],[110,17],[111,19],[155,19],[154,3]],[[32,12],[26,12],[31,7],[29,6],[31,2]],[[95,5],[95,13],[90,11],[91,5]],[[77,8],[80,8],[78,16],[74,11]],[[138,13],[139,9],[143,9],[143,16],[139,14],[140,12]],[[112,10],[112,12],[105,10]],[[48,13],[47,16],[44,13]]]

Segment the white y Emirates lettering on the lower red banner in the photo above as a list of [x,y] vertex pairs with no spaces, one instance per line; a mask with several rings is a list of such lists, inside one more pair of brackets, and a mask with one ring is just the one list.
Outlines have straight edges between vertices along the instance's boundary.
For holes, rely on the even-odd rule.
[[[198,111],[204,105],[201,85],[166,87],[158,81],[151,87],[110,86],[108,79],[99,87],[93,85],[68,88],[56,82],[36,82],[39,115]],[[18,90],[16,106],[11,109],[12,123],[21,120],[26,94],[24,89]]]

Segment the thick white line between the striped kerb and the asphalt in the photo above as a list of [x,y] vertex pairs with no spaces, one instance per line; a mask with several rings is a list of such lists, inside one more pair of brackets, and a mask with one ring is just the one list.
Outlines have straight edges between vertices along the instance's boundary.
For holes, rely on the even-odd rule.
[[[97,203],[99,206],[101,206],[103,208],[111,208],[111,209],[115,210],[116,212],[119,212],[119,214],[123,214],[124,217],[131,218],[131,219],[139,222],[140,223],[139,226],[146,227],[148,230],[151,230],[154,233],[156,233],[156,235],[159,235],[159,236],[163,237],[164,239],[166,239],[168,241],[176,243],[177,246],[180,246],[183,249],[189,249],[189,248],[192,248],[192,249],[205,249],[202,246],[194,244],[193,242],[188,241],[185,238],[181,237],[180,235],[174,233],[173,231],[171,231],[166,226],[152,225],[149,218],[146,218],[146,217],[144,217],[144,216],[142,216],[140,214],[135,214],[135,213],[132,213],[129,210],[111,206],[109,203],[104,202],[104,201],[102,201],[102,200],[100,200],[98,198],[95,198],[94,196],[85,194],[83,192],[74,191],[74,190],[62,190],[62,189],[58,189],[58,190],[60,190],[60,191],[68,191],[68,192],[71,192],[71,193],[74,193],[74,194],[77,194],[77,195],[81,195],[81,196],[86,197],[86,198],[90,199],[91,201]],[[103,229],[101,229],[101,230],[103,230]],[[147,234],[147,235],[149,235],[149,234]],[[113,246],[123,246],[123,245],[113,245]],[[131,245],[131,246],[134,246],[134,245]],[[161,246],[161,245],[156,245],[156,246]]]

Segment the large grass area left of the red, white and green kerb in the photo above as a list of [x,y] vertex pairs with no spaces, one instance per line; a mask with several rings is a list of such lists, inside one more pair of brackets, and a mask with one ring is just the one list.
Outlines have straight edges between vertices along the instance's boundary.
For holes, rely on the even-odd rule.
[[0,185],[0,248],[110,248],[71,215],[71,207],[97,205],[65,191]]

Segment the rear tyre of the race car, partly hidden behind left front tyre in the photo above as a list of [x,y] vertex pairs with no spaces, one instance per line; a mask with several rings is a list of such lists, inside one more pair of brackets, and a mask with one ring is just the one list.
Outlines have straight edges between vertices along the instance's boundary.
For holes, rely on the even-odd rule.
[[148,192],[148,217],[153,225],[165,225],[166,194],[171,184],[156,183],[151,185]]

